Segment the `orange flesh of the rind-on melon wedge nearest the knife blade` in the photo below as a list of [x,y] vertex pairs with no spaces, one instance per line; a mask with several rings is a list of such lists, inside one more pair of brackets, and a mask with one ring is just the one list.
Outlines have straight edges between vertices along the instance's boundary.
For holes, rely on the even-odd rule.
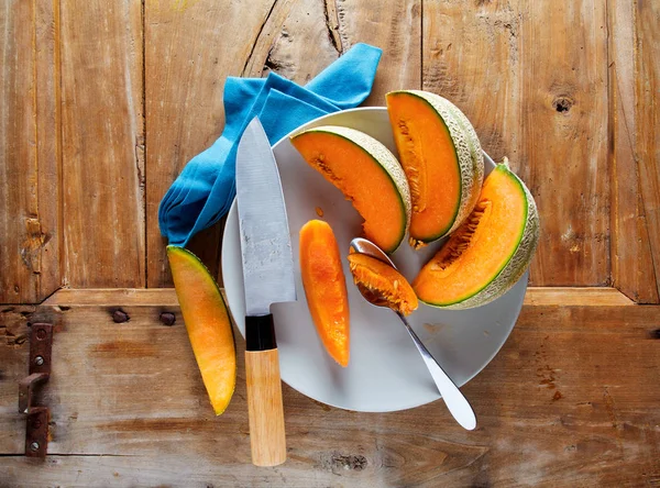
[[386,253],[394,252],[406,232],[406,212],[392,178],[373,156],[328,132],[304,132],[294,136],[292,144],[352,202],[364,219],[366,239]]

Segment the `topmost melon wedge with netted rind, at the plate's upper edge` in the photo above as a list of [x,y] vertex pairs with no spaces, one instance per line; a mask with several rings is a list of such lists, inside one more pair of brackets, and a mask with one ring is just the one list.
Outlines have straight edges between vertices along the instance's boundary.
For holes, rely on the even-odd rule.
[[387,93],[387,112],[413,203],[409,243],[451,234],[470,214],[484,177],[474,127],[449,100],[428,91]]

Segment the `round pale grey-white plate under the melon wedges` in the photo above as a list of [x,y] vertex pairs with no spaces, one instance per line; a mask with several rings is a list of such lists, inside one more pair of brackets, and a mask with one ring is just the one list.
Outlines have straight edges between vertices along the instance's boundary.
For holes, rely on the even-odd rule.
[[[384,108],[326,115],[296,132],[328,124],[363,131],[397,154]],[[305,300],[298,262],[298,231],[307,221],[319,218],[317,207],[322,209],[322,219],[332,226],[340,251],[345,255],[351,239],[361,235],[362,219],[338,189],[305,163],[288,136],[275,144],[273,151],[288,213],[298,295],[296,302],[272,307],[282,379],[315,400],[348,410],[388,412],[437,400],[440,393],[399,319],[362,298],[351,280],[345,259],[351,307],[349,366],[342,368],[326,353]],[[488,174],[494,163],[487,156],[485,163]],[[439,244],[414,252],[404,242],[392,257],[399,270],[413,280]],[[525,274],[504,297],[477,309],[438,310],[420,303],[410,315],[410,324],[457,385],[464,385],[481,371],[508,337],[522,307],[527,277]],[[244,335],[245,303],[235,201],[224,228],[222,278],[229,307]]]

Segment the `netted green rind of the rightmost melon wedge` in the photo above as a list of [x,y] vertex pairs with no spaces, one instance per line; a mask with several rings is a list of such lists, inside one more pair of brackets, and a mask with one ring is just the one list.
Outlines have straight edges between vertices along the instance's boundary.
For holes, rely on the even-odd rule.
[[495,170],[506,171],[507,176],[515,179],[520,187],[520,190],[525,193],[525,199],[527,201],[527,217],[525,219],[525,226],[521,231],[521,237],[516,246],[516,249],[512,253],[508,262],[504,265],[495,278],[493,278],[491,282],[485,285],[484,288],[482,288],[472,297],[460,302],[446,306],[438,306],[427,302],[425,303],[449,310],[463,310],[485,306],[486,303],[490,303],[506,293],[518,281],[518,279],[520,279],[520,277],[529,267],[529,263],[534,257],[534,253],[539,242],[540,233],[539,213],[536,202],[534,201],[534,197],[522,180],[509,169],[506,159],[504,163],[497,165]]

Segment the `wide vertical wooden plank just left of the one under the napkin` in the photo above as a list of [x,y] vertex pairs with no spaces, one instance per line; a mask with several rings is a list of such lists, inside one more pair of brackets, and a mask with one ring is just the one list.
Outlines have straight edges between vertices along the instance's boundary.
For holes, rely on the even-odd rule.
[[141,2],[86,0],[63,7],[66,280],[76,287],[142,287]]

